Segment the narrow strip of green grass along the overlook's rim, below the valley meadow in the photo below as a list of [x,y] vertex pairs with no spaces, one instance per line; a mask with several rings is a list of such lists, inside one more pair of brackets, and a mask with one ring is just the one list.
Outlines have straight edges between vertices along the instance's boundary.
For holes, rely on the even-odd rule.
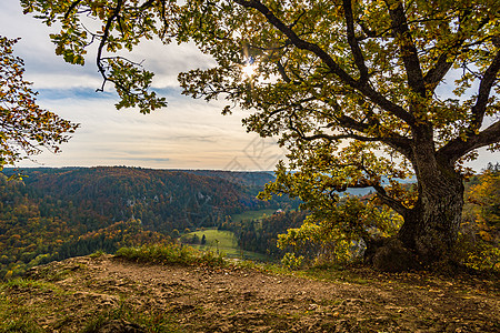
[[121,248],[117,251],[117,256],[151,263],[169,264],[206,264],[210,266],[224,265],[226,261],[222,254],[213,251],[198,251],[191,246],[180,246],[178,244],[152,244],[141,248]]

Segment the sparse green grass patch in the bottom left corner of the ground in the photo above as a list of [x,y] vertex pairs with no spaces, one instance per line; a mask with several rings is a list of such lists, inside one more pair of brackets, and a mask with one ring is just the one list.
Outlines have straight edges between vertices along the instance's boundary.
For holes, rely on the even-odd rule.
[[[66,294],[69,293],[44,281],[16,279],[0,283],[0,332],[100,332],[104,326],[109,329],[106,332],[178,332],[173,314],[138,311],[124,301],[114,309],[98,310],[100,312],[96,312],[98,307],[92,304],[86,304],[77,313],[69,313],[66,310],[71,303]],[[47,317],[57,322],[43,321]],[[83,325],[81,319],[87,319]],[[40,322],[47,325],[41,326]],[[127,331],[130,327],[140,330]]]

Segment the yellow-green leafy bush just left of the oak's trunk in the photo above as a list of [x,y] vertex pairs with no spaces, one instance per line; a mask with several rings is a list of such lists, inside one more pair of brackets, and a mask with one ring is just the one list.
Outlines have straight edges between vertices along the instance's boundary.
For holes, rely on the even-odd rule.
[[[279,234],[277,246],[303,258],[307,264],[359,261],[369,240],[396,234],[401,219],[388,209],[359,198],[342,198],[328,209],[311,209],[302,225]],[[300,258],[299,256],[299,258]],[[291,258],[283,258],[288,263]]]

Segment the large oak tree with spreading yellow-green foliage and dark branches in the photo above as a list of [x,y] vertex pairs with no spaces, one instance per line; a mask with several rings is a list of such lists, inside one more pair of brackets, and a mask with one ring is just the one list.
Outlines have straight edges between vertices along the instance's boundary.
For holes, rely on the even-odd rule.
[[[164,104],[148,90],[152,73],[120,49],[193,41],[217,65],[181,73],[184,93],[223,97],[223,112],[252,110],[247,129],[288,148],[289,165],[279,165],[270,191],[321,209],[334,191],[371,186],[403,218],[397,239],[422,263],[444,260],[456,243],[462,162],[500,141],[497,0],[21,3],[61,24],[52,40],[67,61],[83,63],[96,43],[118,107]],[[399,184],[409,176],[413,193]]]

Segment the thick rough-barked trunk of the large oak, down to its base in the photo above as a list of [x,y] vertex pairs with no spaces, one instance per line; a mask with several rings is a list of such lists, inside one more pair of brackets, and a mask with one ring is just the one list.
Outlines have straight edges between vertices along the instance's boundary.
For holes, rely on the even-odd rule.
[[463,181],[450,161],[438,161],[431,140],[413,147],[418,201],[402,211],[396,239],[368,244],[367,261],[379,270],[402,271],[446,261],[453,250],[463,208]]

